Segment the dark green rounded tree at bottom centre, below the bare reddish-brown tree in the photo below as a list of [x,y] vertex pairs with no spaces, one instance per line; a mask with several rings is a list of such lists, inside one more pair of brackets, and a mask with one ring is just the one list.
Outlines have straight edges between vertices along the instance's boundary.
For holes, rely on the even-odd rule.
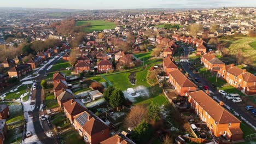
[[136,143],[146,143],[149,139],[151,139],[153,135],[152,125],[147,123],[146,121],[142,121],[135,129],[132,131],[132,140]]

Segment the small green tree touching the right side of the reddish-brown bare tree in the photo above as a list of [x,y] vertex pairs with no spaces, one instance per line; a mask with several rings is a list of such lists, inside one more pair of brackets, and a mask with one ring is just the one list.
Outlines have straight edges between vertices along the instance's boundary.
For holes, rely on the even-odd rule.
[[148,105],[148,119],[149,119],[149,121],[151,121],[151,120],[154,120],[155,122],[159,121],[159,119],[160,119],[159,113],[160,113],[159,106],[157,104],[154,104],[153,102],[151,102]]

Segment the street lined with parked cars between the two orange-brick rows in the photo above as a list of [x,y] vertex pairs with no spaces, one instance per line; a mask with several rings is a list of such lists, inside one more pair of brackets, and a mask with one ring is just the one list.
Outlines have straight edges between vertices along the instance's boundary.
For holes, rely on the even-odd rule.
[[244,102],[240,103],[233,103],[231,100],[226,99],[222,95],[220,95],[215,87],[212,86],[212,84],[207,81],[205,78],[201,77],[198,74],[193,74],[192,71],[189,69],[187,63],[181,63],[183,69],[191,75],[192,78],[199,78],[201,80],[200,83],[196,83],[196,85],[201,85],[201,86],[208,86],[209,90],[214,93],[214,96],[216,96],[219,100],[223,101],[224,104],[228,105],[231,109],[236,111],[240,116],[243,118],[247,119],[248,122],[254,125],[256,127],[256,118],[253,117],[250,111],[247,111],[245,109],[246,104]]

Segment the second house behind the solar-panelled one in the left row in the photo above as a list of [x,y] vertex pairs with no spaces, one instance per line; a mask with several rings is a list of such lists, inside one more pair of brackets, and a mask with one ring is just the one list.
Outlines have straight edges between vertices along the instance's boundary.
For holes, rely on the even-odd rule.
[[57,102],[61,109],[63,109],[63,104],[68,100],[75,99],[75,95],[68,88],[62,88],[60,91],[56,92]]

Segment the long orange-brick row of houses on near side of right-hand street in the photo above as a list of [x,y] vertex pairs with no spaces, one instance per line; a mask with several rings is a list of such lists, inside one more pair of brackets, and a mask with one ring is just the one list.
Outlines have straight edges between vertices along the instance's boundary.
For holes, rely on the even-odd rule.
[[184,75],[171,57],[164,58],[163,67],[176,93],[188,97],[191,108],[214,136],[225,136],[230,140],[243,139],[241,121],[205,92],[197,91],[197,86],[188,79],[188,74]]

